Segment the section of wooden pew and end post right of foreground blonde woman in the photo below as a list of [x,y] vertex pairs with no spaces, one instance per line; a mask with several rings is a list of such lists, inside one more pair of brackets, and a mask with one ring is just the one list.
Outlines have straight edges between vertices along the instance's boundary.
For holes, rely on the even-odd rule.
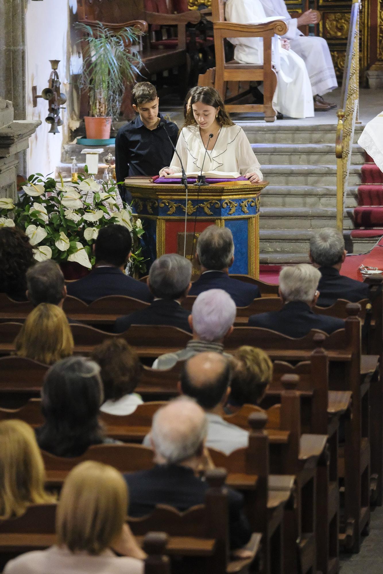
[[[158,505],[152,514],[142,518],[128,517],[137,537],[148,530],[164,530],[169,535],[166,552],[171,557],[187,557],[177,571],[191,574],[223,574],[247,572],[260,548],[261,534],[254,533],[247,545],[252,557],[245,560],[229,558],[229,516],[226,471],[215,469],[206,473],[210,488],[204,505],[180,513],[167,505]],[[174,564],[175,565],[175,564]]]

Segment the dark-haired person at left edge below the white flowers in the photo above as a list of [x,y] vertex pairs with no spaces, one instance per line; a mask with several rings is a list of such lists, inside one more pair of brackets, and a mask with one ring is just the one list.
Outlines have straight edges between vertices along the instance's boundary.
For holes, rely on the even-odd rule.
[[28,235],[18,227],[0,227],[0,293],[26,301],[25,273],[33,263]]

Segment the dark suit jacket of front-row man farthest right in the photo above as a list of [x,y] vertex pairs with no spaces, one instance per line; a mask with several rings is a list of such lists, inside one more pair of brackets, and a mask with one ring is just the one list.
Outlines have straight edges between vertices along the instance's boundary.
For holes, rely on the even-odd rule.
[[368,299],[369,286],[361,281],[341,275],[334,267],[319,267],[322,277],[318,284],[318,303],[320,307],[330,307],[337,299],[346,299],[353,303]]

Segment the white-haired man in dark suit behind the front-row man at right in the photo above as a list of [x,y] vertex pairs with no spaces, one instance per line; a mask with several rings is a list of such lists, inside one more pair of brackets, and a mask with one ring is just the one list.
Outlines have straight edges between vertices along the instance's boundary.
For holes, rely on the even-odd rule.
[[311,329],[330,335],[345,328],[345,321],[317,315],[312,311],[319,297],[320,272],[308,263],[284,267],[279,276],[280,311],[258,313],[249,317],[249,327],[262,327],[288,337],[304,337]]

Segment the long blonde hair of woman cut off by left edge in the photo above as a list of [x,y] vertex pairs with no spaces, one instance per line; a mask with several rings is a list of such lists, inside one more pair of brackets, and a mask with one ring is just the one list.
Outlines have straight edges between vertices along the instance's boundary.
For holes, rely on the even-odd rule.
[[1,421],[0,519],[21,516],[32,504],[53,502],[44,483],[44,463],[33,429],[23,421]]

